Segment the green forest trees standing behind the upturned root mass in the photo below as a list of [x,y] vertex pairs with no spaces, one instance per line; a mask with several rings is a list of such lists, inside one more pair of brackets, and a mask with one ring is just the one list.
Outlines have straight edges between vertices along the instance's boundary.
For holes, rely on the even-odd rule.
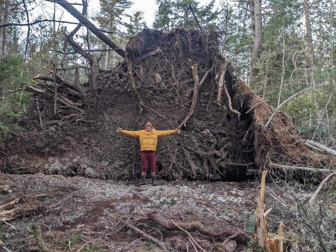
[[[80,82],[88,80],[89,62],[70,45],[61,66],[64,33],[70,33],[69,22],[76,21],[69,21],[70,14],[50,2],[0,0],[0,147],[20,130],[17,119],[33,101],[31,92],[14,91],[33,83],[30,79],[43,73],[43,66],[71,70],[64,74],[69,80],[77,68]],[[156,0],[153,24],[146,24],[143,11],[130,11],[132,1],[99,3],[97,10],[88,9],[88,19],[123,49],[146,27],[218,31],[220,52],[232,62],[238,78],[273,107],[308,87],[323,85],[297,95],[281,110],[303,138],[336,146],[335,1],[212,0],[202,5],[195,0]],[[79,3],[74,6],[82,8]],[[85,26],[75,37],[100,58],[100,69],[112,69],[123,60]]]

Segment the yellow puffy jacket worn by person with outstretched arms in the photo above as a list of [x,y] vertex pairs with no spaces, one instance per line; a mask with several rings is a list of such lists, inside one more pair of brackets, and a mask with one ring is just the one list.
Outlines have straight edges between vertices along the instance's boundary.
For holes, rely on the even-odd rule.
[[158,138],[169,136],[175,133],[175,130],[156,130],[152,129],[151,131],[143,130],[121,130],[121,133],[138,137],[140,140],[140,150],[143,151],[156,151],[156,145],[158,144]]

